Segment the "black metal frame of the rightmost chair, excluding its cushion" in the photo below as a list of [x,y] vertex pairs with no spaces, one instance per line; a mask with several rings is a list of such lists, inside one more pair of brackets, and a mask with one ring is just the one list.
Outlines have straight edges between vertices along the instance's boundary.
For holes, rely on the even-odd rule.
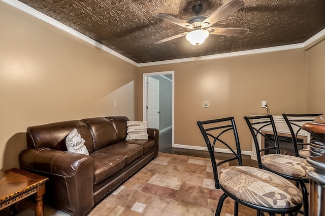
[[[293,145],[294,145],[296,157],[301,157],[299,155],[299,149],[298,149],[299,145],[302,145],[302,146],[309,145],[309,143],[297,143],[297,137],[299,135],[299,132],[302,130],[301,125],[297,124],[297,122],[311,122],[311,121],[313,121],[313,119],[310,119],[310,117],[315,118],[319,115],[322,115],[322,114],[285,114],[285,113],[282,114],[283,119],[284,119],[285,123],[288,125],[291,137],[293,139]],[[296,132],[295,132],[293,126],[297,126]]]

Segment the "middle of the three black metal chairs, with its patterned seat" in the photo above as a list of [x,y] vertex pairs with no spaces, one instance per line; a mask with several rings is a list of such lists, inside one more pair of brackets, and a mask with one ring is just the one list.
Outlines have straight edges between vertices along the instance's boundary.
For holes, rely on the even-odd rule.
[[[308,216],[308,192],[305,183],[309,183],[307,170],[311,170],[312,167],[305,158],[280,154],[279,139],[272,115],[245,116],[244,119],[253,137],[258,167],[299,183],[303,194],[304,208],[300,212]],[[274,139],[271,140],[265,136],[267,131],[274,134]],[[265,140],[268,141],[269,146],[263,146]]]

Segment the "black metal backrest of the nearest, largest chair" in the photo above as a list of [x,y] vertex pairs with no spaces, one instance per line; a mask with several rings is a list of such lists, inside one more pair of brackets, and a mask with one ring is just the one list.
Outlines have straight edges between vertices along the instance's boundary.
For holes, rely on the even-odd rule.
[[[235,119],[234,117],[228,117],[207,121],[198,121],[197,123],[209,150],[215,187],[216,189],[220,189],[218,179],[218,166],[233,160],[238,161],[236,162],[236,165],[243,164]],[[231,147],[234,143],[236,144],[237,151]],[[230,156],[227,159],[218,160],[216,162],[214,150],[218,144],[226,146],[231,151],[233,156]]]

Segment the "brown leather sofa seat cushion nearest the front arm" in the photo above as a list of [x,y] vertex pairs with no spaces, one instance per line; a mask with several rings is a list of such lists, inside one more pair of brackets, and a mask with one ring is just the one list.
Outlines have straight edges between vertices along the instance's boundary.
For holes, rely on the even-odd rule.
[[95,151],[89,155],[95,164],[95,182],[98,184],[115,174],[125,166],[124,156],[109,154],[105,151]]

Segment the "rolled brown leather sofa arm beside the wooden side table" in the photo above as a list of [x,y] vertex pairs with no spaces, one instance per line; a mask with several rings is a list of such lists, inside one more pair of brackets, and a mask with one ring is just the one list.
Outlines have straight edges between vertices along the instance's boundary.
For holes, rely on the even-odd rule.
[[45,201],[71,215],[86,215],[94,205],[94,162],[88,155],[49,148],[26,148],[21,169],[49,178]]

